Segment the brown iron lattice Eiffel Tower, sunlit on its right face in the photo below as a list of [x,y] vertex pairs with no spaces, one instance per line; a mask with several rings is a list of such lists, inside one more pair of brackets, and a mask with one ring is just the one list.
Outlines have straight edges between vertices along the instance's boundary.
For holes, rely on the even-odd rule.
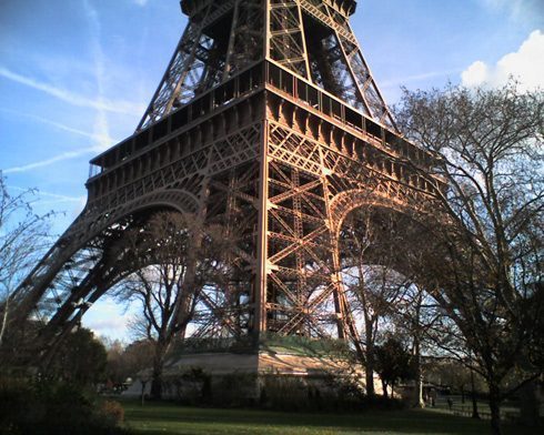
[[[205,290],[194,337],[351,340],[338,236],[361,206],[433,186],[350,27],[354,0],[182,0],[188,26],[134,134],[91,160],[88,202],[13,295],[50,342],[130,274],[109,251],[154,210],[236,215],[239,273]],[[410,164],[406,164],[410,162]],[[241,218],[240,218],[241,216]]]

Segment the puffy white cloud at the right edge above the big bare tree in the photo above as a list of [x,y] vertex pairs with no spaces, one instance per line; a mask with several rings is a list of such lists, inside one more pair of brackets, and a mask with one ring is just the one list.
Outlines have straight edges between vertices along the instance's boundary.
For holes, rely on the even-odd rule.
[[544,88],[544,33],[532,32],[516,52],[504,55],[494,65],[478,60],[461,73],[466,87],[501,87],[513,77],[521,90]]

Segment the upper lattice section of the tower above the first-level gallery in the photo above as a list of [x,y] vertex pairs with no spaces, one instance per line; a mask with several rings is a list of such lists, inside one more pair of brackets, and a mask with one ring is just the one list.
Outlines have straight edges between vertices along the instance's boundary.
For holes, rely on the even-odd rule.
[[[264,58],[324,84],[376,121],[396,129],[350,28],[349,13],[341,12],[354,7],[321,0],[215,0],[199,4],[199,13],[190,17],[137,131]],[[224,42],[213,26],[229,14],[230,32]],[[304,14],[328,29],[323,41],[309,36]]]

